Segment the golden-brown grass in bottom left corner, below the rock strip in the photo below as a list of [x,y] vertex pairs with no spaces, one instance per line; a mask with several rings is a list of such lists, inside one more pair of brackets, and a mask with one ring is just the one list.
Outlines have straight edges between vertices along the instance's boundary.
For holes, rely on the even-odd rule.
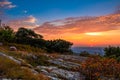
[[22,80],[49,80],[42,74],[33,74],[29,68],[20,67],[12,60],[0,56],[0,76]]

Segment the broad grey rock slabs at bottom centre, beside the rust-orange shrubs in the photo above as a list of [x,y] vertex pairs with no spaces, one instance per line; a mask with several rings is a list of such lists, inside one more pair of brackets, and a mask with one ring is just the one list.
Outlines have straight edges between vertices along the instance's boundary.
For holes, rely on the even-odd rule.
[[[52,57],[52,56],[50,56]],[[57,58],[48,60],[52,66],[37,66],[43,74],[47,75],[51,80],[85,80],[85,76],[80,73],[80,64],[74,61],[84,61],[86,58],[80,59],[80,56],[60,55]]]

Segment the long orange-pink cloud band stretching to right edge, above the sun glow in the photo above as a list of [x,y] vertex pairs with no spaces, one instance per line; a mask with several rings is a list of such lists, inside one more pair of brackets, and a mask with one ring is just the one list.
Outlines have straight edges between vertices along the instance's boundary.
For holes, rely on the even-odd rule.
[[75,17],[64,20],[46,22],[35,28],[35,31],[45,35],[82,34],[86,32],[102,32],[120,28],[120,14],[110,14],[98,17]]

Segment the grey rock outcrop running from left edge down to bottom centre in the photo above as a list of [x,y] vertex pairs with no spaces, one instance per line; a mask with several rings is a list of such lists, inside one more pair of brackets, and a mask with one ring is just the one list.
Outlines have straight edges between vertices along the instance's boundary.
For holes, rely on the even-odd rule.
[[[48,60],[49,63],[55,64],[54,66],[39,65],[37,67],[31,66],[21,58],[14,58],[13,56],[4,53],[0,53],[0,56],[6,57],[17,64],[20,64],[21,68],[28,68],[34,74],[42,73],[51,80],[85,80],[85,76],[79,71],[80,64],[68,61],[66,60],[66,57],[61,55],[58,58],[50,58],[50,60]],[[27,56],[32,56],[33,59],[36,59],[36,56],[33,54],[28,54]],[[71,56],[69,56],[69,58]],[[73,71],[72,68],[76,68],[78,71]]]

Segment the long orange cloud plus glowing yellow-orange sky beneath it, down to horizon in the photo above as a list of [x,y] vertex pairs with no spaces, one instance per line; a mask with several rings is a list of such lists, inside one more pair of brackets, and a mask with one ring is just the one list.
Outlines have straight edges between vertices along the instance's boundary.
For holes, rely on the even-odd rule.
[[120,45],[120,38],[118,38],[120,36],[120,14],[56,20],[46,22],[34,30],[45,36],[45,39],[62,38],[73,42],[74,45]]

